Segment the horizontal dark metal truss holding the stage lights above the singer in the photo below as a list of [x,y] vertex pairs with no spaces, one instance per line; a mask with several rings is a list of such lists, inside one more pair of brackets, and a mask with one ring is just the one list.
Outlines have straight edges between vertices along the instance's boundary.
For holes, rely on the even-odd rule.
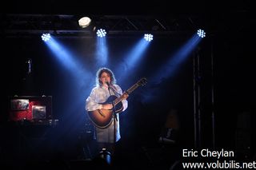
[[110,36],[150,33],[155,36],[188,34],[197,29],[200,19],[196,16],[90,16],[92,23],[87,28],[78,26],[77,15],[63,14],[6,14],[2,17],[5,36],[32,36],[50,33],[56,36],[94,36],[101,27]]

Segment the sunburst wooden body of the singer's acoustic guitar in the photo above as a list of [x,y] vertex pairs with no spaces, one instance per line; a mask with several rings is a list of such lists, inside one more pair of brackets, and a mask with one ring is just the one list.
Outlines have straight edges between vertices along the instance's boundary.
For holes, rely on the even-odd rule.
[[[112,104],[112,102],[116,98],[117,97],[112,95],[112,96],[108,97],[108,99],[104,103],[100,103],[100,104],[102,104],[102,105]],[[115,105],[114,108],[115,108],[115,113],[122,112],[122,109],[123,109],[122,102]],[[112,119],[113,114],[114,114],[114,109],[110,109],[110,110],[97,109],[97,110],[88,112],[88,115],[90,117],[90,121],[92,121],[94,123],[94,125],[97,126],[98,128],[107,128],[113,120]]]

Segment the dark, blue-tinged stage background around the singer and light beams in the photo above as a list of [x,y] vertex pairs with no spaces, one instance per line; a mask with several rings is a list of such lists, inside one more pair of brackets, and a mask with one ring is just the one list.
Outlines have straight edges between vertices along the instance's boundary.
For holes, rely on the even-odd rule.
[[[59,1],[49,3],[8,1],[6,6],[2,6],[2,17],[5,14],[83,14],[86,11],[86,14],[142,14],[163,17],[197,15],[204,18],[202,25],[210,30],[210,35],[200,42],[198,49],[190,54],[187,61],[178,69],[178,73],[162,79],[158,84],[149,79],[145,87],[136,90],[130,96],[129,108],[121,115],[120,120],[122,140],[118,149],[122,152],[121,158],[131,162],[142,160],[153,165],[166,164],[170,167],[170,164],[181,156],[182,148],[194,148],[193,57],[199,55],[202,68],[197,81],[202,88],[201,103],[198,106],[202,114],[201,147],[226,148],[236,151],[239,159],[255,159],[255,19],[250,1],[214,1],[207,4],[160,1],[154,2],[154,5],[134,1],[98,2],[91,5],[74,5],[71,2]],[[5,27],[2,28],[4,30]],[[1,38],[2,162],[6,164],[19,161],[20,156],[24,160],[29,160],[33,156],[38,158],[35,160],[53,160],[60,156],[65,160],[78,159],[81,150],[79,146],[85,146],[88,144],[86,141],[91,138],[84,134],[85,128],[88,127],[84,103],[81,100],[89,95],[91,82],[82,87],[76,86],[74,77],[58,64],[54,54],[50,53],[39,36],[10,38],[2,31]],[[120,56],[125,54],[124,51],[128,50],[127,46],[134,45],[137,40],[136,37],[109,38],[110,60],[116,64],[120,61]],[[80,46],[81,43],[93,46],[90,45],[90,38],[67,37],[60,38],[59,41],[78,53],[78,59],[94,75],[97,68],[94,60],[90,58],[90,53],[94,53],[94,49],[82,49]],[[137,67],[138,73],[135,76],[126,73],[126,79],[129,81],[121,84],[122,89],[129,88],[140,77],[150,77],[185,41],[186,37],[179,36],[155,38],[146,52],[146,60]],[[85,57],[85,53],[89,53],[90,57]],[[211,56],[214,58],[214,77],[211,77],[210,71]],[[32,59],[34,66],[31,77],[26,77],[28,57]],[[110,68],[115,71],[114,64]],[[32,81],[32,86],[27,88],[26,81]],[[211,104],[212,85],[214,105]],[[59,120],[58,126],[10,128],[7,121],[7,99],[8,96],[16,94],[53,96],[53,116]],[[174,147],[171,144],[164,145],[168,149],[162,150],[162,145],[158,144],[158,137],[170,109],[178,110],[178,142]],[[212,139],[212,112],[215,113],[215,146]],[[36,136],[38,138],[34,137],[35,134],[39,134]],[[40,134],[44,134],[46,139],[42,140]],[[30,136],[39,140],[32,140]],[[94,143],[88,145],[93,151]],[[126,154],[129,156],[125,156]]]

